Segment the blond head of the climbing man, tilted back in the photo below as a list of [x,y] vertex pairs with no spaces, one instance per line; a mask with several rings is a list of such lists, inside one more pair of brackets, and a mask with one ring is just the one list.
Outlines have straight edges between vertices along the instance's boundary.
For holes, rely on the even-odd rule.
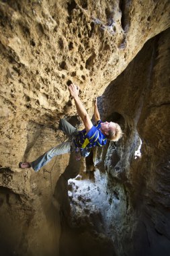
[[101,132],[112,141],[118,141],[123,135],[120,125],[114,122],[101,123]]

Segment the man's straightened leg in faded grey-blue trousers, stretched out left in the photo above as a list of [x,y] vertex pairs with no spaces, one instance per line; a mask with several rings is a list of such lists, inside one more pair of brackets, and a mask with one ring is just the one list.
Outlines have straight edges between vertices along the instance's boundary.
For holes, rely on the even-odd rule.
[[[50,162],[54,156],[62,155],[71,152],[71,142],[66,141],[61,143],[60,145],[56,146],[55,148],[52,148],[51,150],[48,150],[46,153],[44,153],[42,156],[39,156],[35,161],[33,162],[26,162],[20,164],[21,168],[32,168],[35,170],[35,172],[38,172],[42,166]],[[30,164],[30,166],[28,165]]]

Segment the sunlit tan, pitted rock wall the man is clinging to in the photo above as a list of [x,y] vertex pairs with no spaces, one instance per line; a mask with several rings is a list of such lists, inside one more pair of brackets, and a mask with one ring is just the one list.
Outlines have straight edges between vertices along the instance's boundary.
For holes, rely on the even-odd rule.
[[[19,172],[18,162],[31,161],[65,139],[58,121],[76,113],[69,80],[79,84],[92,116],[93,98],[124,71],[144,42],[169,27],[169,1],[3,0],[0,17],[1,250],[3,255],[58,255],[62,199],[51,192],[69,156],[57,157],[39,173]],[[122,95],[120,90],[126,102]],[[116,106],[107,116],[115,109],[126,120],[128,107]],[[128,123],[127,137],[136,127]],[[125,147],[130,152],[130,143]],[[46,170],[52,170],[52,179]]]

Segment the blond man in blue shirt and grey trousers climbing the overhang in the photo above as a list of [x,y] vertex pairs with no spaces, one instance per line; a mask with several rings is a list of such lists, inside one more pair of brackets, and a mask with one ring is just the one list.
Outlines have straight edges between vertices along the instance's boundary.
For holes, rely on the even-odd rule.
[[68,137],[68,141],[62,142],[60,145],[48,150],[38,159],[33,162],[19,162],[19,168],[32,167],[35,172],[40,170],[42,166],[47,164],[54,156],[66,154],[71,152],[75,154],[77,160],[80,160],[80,156],[86,157],[89,154],[89,149],[95,146],[104,146],[107,139],[112,141],[118,141],[122,137],[122,130],[117,123],[113,122],[101,122],[99,111],[97,108],[97,99],[94,103],[94,119],[96,125],[93,125],[85,107],[83,106],[79,98],[79,87],[75,84],[69,86],[70,95],[75,100],[75,106],[77,113],[81,117],[85,129],[77,131],[70,123],[65,119],[61,119],[59,123],[59,129],[61,129]]

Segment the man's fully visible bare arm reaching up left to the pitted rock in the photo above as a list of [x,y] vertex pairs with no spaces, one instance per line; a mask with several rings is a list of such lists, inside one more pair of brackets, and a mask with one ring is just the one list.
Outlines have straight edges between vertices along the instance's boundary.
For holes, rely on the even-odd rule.
[[75,106],[77,108],[77,113],[81,117],[81,119],[85,125],[85,129],[88,132],[91,129],[91,127],[93,126],[93,124],[91,123],[89,115],[87,114],[87,111],[85,110],[85,107],[83,106],[83,104],[79,98],[79,87],[75,86],[75,84],[71,84],[69,86],[69,91],[70,91],[71,96],[75,100]]

